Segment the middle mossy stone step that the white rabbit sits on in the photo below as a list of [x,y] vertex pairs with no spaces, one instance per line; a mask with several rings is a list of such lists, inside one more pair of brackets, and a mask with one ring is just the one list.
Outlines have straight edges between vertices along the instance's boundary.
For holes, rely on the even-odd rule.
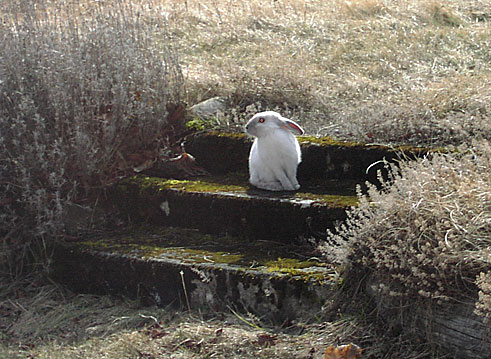
[[304,182],[297,192],[270,192],[235,173],[198,180],[136,176],[110,192],[133,223],[199,229],[248,239],[292,241],[324,236],[356,205],[356,181]]

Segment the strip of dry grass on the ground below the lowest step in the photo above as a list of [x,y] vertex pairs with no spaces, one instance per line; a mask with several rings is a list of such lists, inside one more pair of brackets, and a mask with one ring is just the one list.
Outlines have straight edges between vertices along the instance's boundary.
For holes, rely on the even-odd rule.
[[431,353],[429,346],[377,332],[363,317],[279,330],[247,325],[232,313],[142,308],[109,296],[73,295],[53,285],[2,288],[0,311],[2,358],[323,359],[329,345],[349,342],[378,359]]

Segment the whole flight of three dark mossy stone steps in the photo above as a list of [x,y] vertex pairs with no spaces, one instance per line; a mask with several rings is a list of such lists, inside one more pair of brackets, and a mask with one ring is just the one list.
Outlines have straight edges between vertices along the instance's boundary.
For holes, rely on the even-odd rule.
[[276,322],[312,317],[339,278],[311,239],[356,205],[356,184],[375,178],[375,168],[366,174],[370,165],[402,152],[328,139],[301,143],[302,188],[275,193],[248,185],[245,136],[190,138],[186,151],[210,176],[121,181],[108,195],[131,229],[58,247],[56,277],[78,291],[157,305],[230,306]]

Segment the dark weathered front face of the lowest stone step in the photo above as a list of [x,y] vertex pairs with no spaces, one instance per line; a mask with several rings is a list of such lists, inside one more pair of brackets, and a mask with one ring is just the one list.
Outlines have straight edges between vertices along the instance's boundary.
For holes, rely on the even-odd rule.
[[172,258],[59,245],[55,280],[76,292],[120,294],[146,305],[227,311],[230,307],[275,323],[311,320],[336,287],[324,268],[292,275],[223,263],[186,263]]

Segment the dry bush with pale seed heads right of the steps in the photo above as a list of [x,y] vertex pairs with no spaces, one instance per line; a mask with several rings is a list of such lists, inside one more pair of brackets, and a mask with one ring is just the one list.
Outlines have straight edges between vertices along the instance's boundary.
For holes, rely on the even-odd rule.
[[484,142],[389,166],[391,178],[360,193],[360,205],[329,241],[345,243],[346,258],[373,270],[389,295],[443,303],[475,299],[481,290],[480,312],[489,313],[490,165]]

